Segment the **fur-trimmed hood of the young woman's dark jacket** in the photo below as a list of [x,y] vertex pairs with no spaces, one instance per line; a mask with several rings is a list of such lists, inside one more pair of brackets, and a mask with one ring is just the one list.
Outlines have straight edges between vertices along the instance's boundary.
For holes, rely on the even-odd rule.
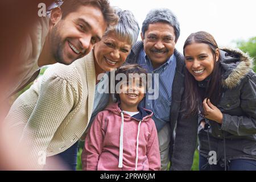
[[253,58],[240,49],[222,48],[220,50],[220,64],[223,69],[222,85],[232,89],[240,84],[241,80],[253,68]]

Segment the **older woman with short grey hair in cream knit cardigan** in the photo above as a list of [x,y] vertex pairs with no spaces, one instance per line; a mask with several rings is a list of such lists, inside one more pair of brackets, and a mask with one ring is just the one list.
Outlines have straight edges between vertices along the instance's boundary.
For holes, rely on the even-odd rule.
[[[125,63],[139,34],[130,11],[116,8],[115,13],[117,26],[107,30],[88,55],[71,65],[52,65],[18,97],[7,115],[6,123],[30,147],[31,162],[39,169],[75,170],[77,141],[92,113],[108,104],[109,94],[98,92],[106,79],[97,78]],[[65,168],[51,168],[51,159],[56,158],[62,159]]]

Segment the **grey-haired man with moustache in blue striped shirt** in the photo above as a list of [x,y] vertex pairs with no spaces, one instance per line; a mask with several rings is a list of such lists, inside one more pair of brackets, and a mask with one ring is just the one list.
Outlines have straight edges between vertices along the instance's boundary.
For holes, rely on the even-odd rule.
[[147,92],[140,106],[154,113],[162,170],[167,169],[170,158],[171,169],[190,170],[196,148],[197,120],[184,119],[180,112],[185,64],[184,56],[175,49],[179,35],[179,22],[170,10],[151,10],[142,24],[142,41],[135,44],[126,60],[152,73],[154,90],[159,92],[153,99]]

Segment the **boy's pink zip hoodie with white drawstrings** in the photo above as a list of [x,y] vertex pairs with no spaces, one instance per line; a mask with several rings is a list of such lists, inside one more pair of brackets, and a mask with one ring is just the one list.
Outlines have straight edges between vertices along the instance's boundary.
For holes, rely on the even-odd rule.
[[158,134],[152,114],[140,108],[139,114],[130,117],[122,113],[117,103],[98,113],[85,139],[82,169],[160,170]]

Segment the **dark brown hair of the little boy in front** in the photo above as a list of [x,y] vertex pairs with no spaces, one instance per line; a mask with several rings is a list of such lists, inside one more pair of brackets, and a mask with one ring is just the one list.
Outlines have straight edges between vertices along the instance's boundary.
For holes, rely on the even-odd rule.
[[[129,74],[135,74],[135,73],[137,73],[138,75],[144,74],[146,76],[146,83],[144,83],[146,85],[144,86],[145,88],[147,88],[147,71],[146,69],[142,68],[139,64],[122,65],[120,68],[117,69],[117,71],[115,71],[115,76],[117,76],[119,73],[125,74],[127,78],[129,78]],[[124,80],[115,80],[115,88],[120,81],[124,81]],[[117,98],[117,102],[120,102],[120,97],[119,97],[119,94],[117,93],[117,90],[115,90],[115,98]]]

